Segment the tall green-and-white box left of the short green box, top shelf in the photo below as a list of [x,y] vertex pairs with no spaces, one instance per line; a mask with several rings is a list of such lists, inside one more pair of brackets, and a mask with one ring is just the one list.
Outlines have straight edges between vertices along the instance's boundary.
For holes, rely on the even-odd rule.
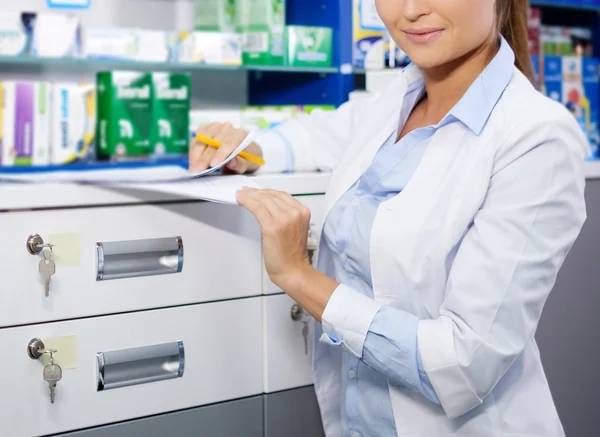
[[235,12],[243,39],[243,63],[283,65],[285,0],[237,0]]

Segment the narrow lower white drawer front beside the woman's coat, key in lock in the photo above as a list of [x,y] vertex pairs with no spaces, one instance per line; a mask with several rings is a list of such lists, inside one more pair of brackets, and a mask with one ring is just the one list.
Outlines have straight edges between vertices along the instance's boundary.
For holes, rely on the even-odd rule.
[[313,321],[309,319],[308,353],[305,353],[302,322],[294,321],[294,301],[286,294],[263,298],[265,353],[264,392],[272,393],[313,383]]

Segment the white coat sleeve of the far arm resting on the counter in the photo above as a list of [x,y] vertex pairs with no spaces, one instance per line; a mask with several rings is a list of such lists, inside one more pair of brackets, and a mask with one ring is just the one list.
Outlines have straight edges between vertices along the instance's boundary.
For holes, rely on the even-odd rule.
[[331,171],[349,144],[354,127],[360,124],[377,94],[348,101],[334,111],[316,109],[281,125],[259,131],[255,142],[266,164],[260,173]]

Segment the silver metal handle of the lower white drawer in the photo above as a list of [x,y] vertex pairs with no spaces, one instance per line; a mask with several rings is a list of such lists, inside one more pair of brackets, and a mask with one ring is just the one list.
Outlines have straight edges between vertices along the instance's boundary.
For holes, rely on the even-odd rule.
[[185,364],[182,341],[98,352],[98,391],[181,378]]

